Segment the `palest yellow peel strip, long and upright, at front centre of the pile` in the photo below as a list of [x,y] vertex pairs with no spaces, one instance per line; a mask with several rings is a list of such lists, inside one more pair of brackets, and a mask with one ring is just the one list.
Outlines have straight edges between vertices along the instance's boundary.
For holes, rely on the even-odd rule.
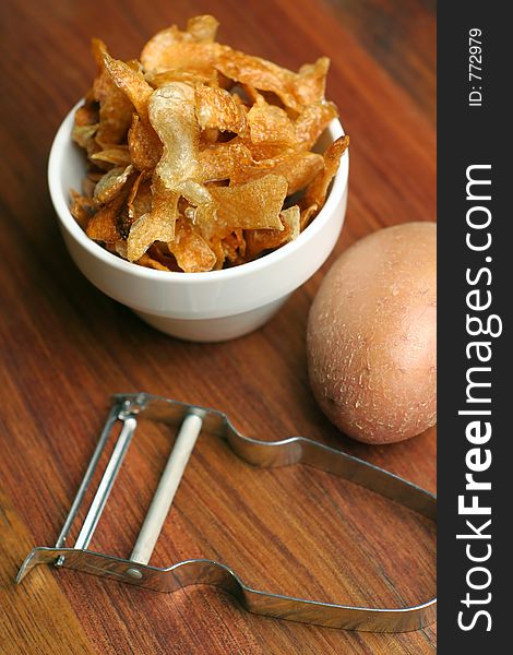
[[208,203],[208,191],[198,181],[201,178],[200,127],[194,111],[194,90],[181,82],[162,86],[150,98],[148,112],[164,144],[155,177],[164,188],[178,192],[194,205]]

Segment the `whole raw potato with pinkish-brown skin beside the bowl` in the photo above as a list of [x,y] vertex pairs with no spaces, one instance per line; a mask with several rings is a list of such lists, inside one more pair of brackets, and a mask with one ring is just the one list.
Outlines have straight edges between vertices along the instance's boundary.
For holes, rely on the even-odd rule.
[[348,248],[310,309],[310,383],[343,432],[392,443],[437,422],[437,226],[405,223]]

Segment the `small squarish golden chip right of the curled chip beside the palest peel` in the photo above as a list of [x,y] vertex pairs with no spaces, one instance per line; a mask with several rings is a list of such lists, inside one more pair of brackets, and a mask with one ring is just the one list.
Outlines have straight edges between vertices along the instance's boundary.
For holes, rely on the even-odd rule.
[[248,112],[251,141],[254,144],[296,145],[294,123],[281,107],[269,105],[262,96]]

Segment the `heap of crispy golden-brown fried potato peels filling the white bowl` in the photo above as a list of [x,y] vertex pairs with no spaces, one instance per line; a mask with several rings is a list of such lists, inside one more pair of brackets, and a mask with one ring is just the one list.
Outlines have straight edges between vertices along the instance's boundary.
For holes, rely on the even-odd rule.
[[291,241],[348,145],[311,152],[337,116],[325,57],[294,73],[216,43],[217,25],[201,15],[164,29],[140,61],[93,40],[98,72],[72,133],[88,170],[71,213],[130,262],[212,271]]

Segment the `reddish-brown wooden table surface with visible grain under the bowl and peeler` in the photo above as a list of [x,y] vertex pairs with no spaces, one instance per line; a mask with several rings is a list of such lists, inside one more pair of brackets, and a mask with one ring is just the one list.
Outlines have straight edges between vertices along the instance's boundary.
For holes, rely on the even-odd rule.
[[[147,391],[226,412],[247,434],[303,434],[434,490],[436,433],[358,444],[315,406],[307,313],[327,266],[383,226],[436,217],[434,0],[7,0],[0,15],[0,652],[102,654],[432,653],[434,627],[387,635],[244,612],[194,586],[174,595],[71,570],[36,569],[92,455],[110,394]],[[335,253],[259,332],[187,344],[159,334],[81,276],[46,182],[55,131],[94,73],[90,38],[120,58],[198,13],[220,40],[297,69],[332,60],[327,96],[351,138],[350,195]],[[169,436],[141,429],[92,544],[130,553]],[[251,586],[355,605],[434,593],[434,528],[391,501],[306,467],[250,468],[202,434],[153,562],[206,557]]]

